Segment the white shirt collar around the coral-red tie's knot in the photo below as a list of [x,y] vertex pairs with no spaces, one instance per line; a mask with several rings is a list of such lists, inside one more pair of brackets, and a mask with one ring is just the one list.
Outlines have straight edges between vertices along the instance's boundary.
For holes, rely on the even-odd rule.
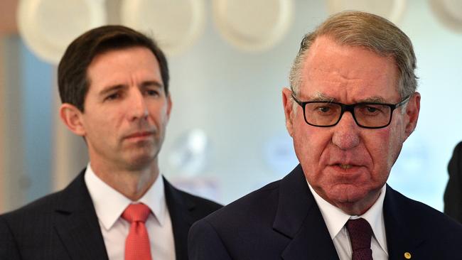
[[153,185],[138,201],[131,201],[128,197],[125,197],[122,193],[104,183],[93,172],[90,163],[88,163],[87,170],[85,170],[85,184],[87,185],[90,197],[92,197],[93,205],[95,205],[96,215],[105,229],[111,229],[124,210],[131,203],[138,202],[147,205],[161,226],[163,225],[166,217],[166,199],[163,192],[162,175],[156,178]]

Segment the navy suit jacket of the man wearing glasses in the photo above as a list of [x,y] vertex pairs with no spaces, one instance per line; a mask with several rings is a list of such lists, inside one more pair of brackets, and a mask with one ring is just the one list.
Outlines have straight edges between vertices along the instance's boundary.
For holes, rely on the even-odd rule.
[[[387,186],[389,259],[462,259],[462,226]],[[301,166],[193,224],[190,260],[338,259]]]

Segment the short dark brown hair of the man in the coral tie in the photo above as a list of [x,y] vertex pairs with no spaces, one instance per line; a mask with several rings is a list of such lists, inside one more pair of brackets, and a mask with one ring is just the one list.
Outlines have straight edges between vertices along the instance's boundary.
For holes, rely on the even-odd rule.
[[146,47],[156,56],[161,70],[163,87],[168,94],[168,65],[156,42],[125,26],[101,26],[76,38],[65,50],[58,65],[58,88],[61,102],[84,111],[85,96],[90,86],[87,69],[95,56],[109,50]]

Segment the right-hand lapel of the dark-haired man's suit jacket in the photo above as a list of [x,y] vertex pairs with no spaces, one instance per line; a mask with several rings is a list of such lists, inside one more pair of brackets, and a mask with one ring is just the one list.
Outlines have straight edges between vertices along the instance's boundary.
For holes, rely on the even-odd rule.
[[194,209],[195,204],[168,183],[166,178],[163,178],[163,183],[168,212],[170,213],[173,228],[176,259],[187,260],[188,232],[194,222],[191,211]]

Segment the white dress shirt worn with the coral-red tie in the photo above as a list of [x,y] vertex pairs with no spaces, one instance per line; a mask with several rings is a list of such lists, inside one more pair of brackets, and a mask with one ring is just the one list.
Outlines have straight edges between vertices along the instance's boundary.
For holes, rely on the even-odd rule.
[[95,205],[102,237],[110,260],[124,260],[125,239],[130,223],[122,219],[122,212],[130,203],[142,202],[151,209],[146,229],[151,243],[151,256],[156,260],[175,260],[175,244],[170,214],[163,192],[163,178],[156,179],[138,201],[131,201],[95,175],[90,163],[85,171],[85,184]]

